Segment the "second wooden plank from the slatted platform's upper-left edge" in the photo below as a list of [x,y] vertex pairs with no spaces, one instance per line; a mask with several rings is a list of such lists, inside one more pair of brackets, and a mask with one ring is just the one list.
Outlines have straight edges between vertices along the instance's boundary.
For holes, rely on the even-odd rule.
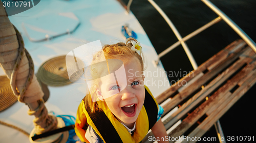
[[194,82],[194,84],[189,85],[185,90],[178,93],[174,98],[172,98],[171,101],[169,101],[167,104],[163,106],[164,113],[163,116],[166,115],[166,113],[173,109],[175,106],[177,106],[182,100],[187,98],[191,93],[195,92],[201,86],[206,83],[209,79],[216,76],[219,72],[221,72],[224,68],[226,68],[229,64],[231,64],[234,60],[236,60],[239,55],[244,50],[239,51],[238,53],[231,53],[228,58],[226,58],[224,61],[222,61],[217,67],[212,69],[211,71],[204,74],[201,78],[199,78],[197,81]]

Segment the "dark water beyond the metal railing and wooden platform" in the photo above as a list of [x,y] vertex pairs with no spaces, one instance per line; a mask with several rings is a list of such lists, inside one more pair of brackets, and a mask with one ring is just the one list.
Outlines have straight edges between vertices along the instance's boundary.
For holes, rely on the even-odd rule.
[[[128,1],[124,2],[127,4]],[[218,17],[199,0],[156,0],[155,2],[172,20],[182,37]],[[236,22],[253,41],[256,41],[255,0],[211,0],[211,2]],[[149,2],[146,0],[133,1],[131,11],[141,23],[157,53],[177,42],[177,38],[168,24]],[[240,39],[240,37],[224,21],[221,21],[186,43],[197,64],[201,65],[236,39]],[[193,70],[182,46],[163,56],[161,62],[166,71]],[[173,77],[169,80],[178,78],[181,77]],[[255,95],[256,85],[220,119],[225,136],[254,135],[256,137],[254,130],[256,120],[253,116]],[[215,127],[212,126],[203,137],[217,137]]]

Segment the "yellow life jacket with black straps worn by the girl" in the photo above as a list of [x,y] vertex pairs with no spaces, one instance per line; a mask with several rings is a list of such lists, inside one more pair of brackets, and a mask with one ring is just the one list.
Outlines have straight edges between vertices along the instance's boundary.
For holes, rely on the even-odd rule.
[[81,101],[75,123],[75,132],[83,142],[89,142],[84,136],[88,125],[104,142],[140,142],[157,122],[158,103],[150,90],[145,86],[145,100],[136,120],[136,130],[131,135],[127,129],[114,117],[103,101],[97,101],[99,111],[91,112]]

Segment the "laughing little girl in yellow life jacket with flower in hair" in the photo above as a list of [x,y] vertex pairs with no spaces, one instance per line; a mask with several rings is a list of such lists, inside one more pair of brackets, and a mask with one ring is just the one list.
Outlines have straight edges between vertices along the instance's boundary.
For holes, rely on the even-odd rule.
[[[144,65],[137,40],[106,45],[102,51],[94,55],[90,68],[92,78],[98,80],[92,82],[77,110],[75,131],[80,140],[140,142],[150,129],[155,137],[167,136],[161,122],[163,109],[143,84]],[[102,55],[107,68],[99,64]]]

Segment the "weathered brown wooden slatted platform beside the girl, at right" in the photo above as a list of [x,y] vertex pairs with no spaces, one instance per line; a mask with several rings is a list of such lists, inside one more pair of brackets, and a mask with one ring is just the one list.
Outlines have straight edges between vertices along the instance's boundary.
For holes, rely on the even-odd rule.
[[[170,142],[185,132],[202,137],[255,82],[256,54],[243,40],[232,42],[156,98]],[[148,136],[142,142],[154,142]]]

